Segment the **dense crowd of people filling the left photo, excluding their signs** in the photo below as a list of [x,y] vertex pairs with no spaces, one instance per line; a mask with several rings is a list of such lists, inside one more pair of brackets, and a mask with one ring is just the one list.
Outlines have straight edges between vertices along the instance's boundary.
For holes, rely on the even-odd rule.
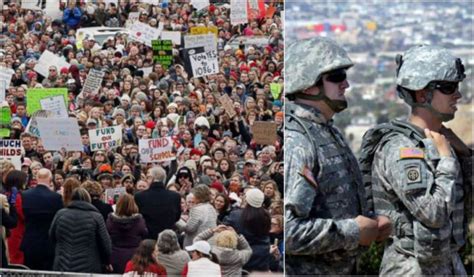
[[[15,3],[2,11],[0,66],[14,70],[2,103],[10,134],[2,139],[21,140],[22,154],[20,166],[0,161],[1,267],[129,276],[283,271],[282,95],[271,93],[272,84],[283,84],[283,3],[265,1],[271,12],[232,25],[225,1],[201,10],[190,1],[156,2],[165,3],[70,1],[56,19]],[[184,43],[173,44],[167,67],[124,33],[101,44],[76,37],[83,27],[125,27],[133,12],[181,37],[216,26],[219,72],[194,78]],[[245,44],[255,36],[268,43]],[[45,50],[70,67],[35,71]],[[104,72],[97,94],[83,90],[91,70]],[[27,130],[32,88],[67,88],[82,151],[45,149]],[[218,101],[222,95],[235,115]],[[276,123],[273,144],[255,141],[257,121]],[[110,126],[122,127],[122,144],[92,149],[89,130]],[[141,162],[139,141],[164,137],[176,159]],[[116,188],[124,193],[107,198]]]

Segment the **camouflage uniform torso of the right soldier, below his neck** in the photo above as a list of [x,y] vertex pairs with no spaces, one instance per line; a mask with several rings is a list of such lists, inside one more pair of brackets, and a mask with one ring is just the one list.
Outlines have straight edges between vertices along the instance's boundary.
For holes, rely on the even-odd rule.
[[440,157],[431,139],[421,146],[392,133],[374,156],[374,209],[394,223],[380,273],[465,275],[455,261],[467,231],[459,161],[454,151]]

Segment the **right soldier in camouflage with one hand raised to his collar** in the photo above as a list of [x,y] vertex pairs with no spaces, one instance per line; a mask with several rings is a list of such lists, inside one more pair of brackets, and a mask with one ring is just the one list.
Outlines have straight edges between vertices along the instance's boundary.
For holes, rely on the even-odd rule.
[[464,67],[434,46],[409,49],[397,65],[397,91],[411,106],[409,119],[369,130],[361,155],[364,177],[372,175],[369,200],[394,222],[380,274],[466,275],[458,250],[467,231],[472,150],[442,124],[454,118]]

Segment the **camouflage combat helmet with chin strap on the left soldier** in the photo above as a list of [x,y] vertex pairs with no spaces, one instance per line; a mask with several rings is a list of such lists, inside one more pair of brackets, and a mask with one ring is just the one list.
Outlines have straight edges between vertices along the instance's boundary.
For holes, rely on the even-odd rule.
[[347,52],[335,41],[316,37],[291,43],[285,51],[285,95],[308,100],[323,100],[335,112],[347,107],[345,100],[327,97],[324,88],[318,95],[303,93],[314,86],[324,73],[347,69],[354,64]]

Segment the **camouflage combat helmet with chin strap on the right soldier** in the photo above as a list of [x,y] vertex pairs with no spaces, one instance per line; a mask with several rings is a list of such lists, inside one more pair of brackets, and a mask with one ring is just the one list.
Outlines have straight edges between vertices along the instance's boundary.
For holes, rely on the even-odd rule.
[[433,89],[429,90],[426,103],[417,103],[410,91],[430,88],[435,82],[461,82],[466,78],[461,59],[444,48],[420,45],[410,48],[403,56],[397,55],[396,62],[398,96],[412,107],[430,109],[442,121],[452,119],[452,114],[440,113],[431,106]]

